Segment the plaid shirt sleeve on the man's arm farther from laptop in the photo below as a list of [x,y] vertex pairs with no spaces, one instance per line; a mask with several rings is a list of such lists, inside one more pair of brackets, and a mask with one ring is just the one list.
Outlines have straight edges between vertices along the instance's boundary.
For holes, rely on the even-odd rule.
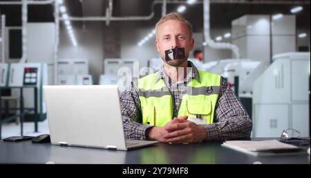
[[214,123],[204,125],[207,134],[206,141],[250,137],[252,121],[224,78],[222,78],[215,113]]

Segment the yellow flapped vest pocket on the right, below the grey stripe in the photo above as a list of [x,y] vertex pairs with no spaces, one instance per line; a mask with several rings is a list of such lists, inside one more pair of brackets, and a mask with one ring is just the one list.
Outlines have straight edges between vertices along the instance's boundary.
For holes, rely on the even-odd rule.
[[206,118],[207,124],[212,123],[210,100],[187,100],[186,107],[189,118]]

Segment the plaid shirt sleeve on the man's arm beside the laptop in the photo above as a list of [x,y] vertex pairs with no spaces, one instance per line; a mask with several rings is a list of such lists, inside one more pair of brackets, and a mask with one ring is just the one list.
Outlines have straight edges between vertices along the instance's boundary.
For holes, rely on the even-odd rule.
[[122,121],[125,139],[147,140],[146,131],[151,125],[142,125],[142,110],[137,87],[132,84],[120,97]]

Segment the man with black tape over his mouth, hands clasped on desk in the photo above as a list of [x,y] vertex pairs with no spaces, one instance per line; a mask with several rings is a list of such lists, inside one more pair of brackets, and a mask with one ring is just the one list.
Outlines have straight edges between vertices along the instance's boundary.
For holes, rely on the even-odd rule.
[[250,136],[252,122],[227,82],[188,62],[194,39],[187,20],[178,13],[162,17],[156,47],[162,69],[120,97],[126,139],[196,143]]

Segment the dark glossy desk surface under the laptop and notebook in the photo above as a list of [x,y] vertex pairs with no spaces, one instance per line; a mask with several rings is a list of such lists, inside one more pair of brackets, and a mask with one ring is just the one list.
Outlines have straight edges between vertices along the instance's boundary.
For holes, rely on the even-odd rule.
[[[267,138],[266,138],[267,139]],[[272,138],[270,138],[272,139]],[[258,140],[258,139],[256,139]],[[263,139],[260,139],[263,140]],[[0,163],[303,163],[310,164],[310,155],[274,155],[255,157],[229,148],[221,142],[187,145],[157,145],[138,150],[115,151],[31,143],[0,141]],[[258,163],[258,162],[256,162]]]

